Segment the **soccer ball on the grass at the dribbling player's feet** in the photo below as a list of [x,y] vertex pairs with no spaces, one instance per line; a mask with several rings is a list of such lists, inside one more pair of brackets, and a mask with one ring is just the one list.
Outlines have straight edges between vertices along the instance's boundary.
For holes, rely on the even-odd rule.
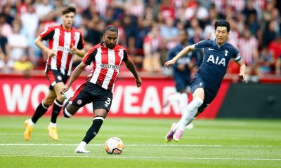
[[108,154],[120,154],[124,149],[124,144],[121,139],[111,137],[105,141],[105,152]]

